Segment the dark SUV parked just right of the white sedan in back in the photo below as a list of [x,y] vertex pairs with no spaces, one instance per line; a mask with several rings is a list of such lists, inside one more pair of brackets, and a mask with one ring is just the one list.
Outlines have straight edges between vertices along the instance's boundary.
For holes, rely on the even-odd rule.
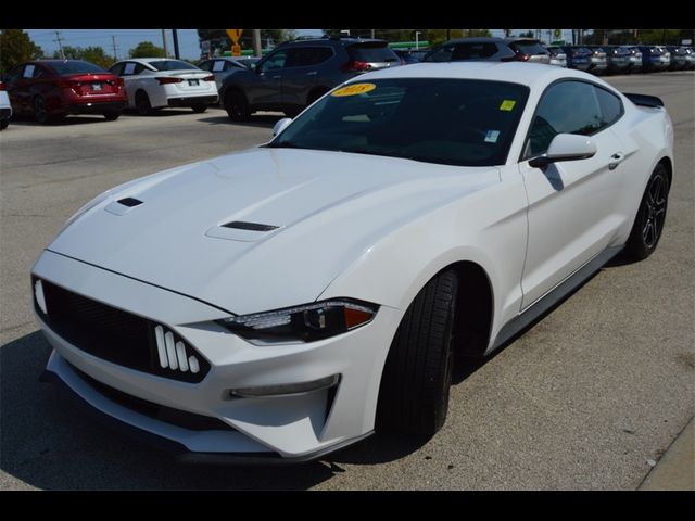
[[400,64],[383,40],[294,40],[274,49],[253,69],[227,76],[219,100],[235,122],[248,120],[255,111],[281,111],[294,117],[343,81]]

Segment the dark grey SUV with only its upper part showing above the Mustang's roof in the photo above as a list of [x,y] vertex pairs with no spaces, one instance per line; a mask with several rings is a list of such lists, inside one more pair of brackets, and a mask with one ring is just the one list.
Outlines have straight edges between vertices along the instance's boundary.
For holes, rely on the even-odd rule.
[[424,62],[462,62],[489,60],[496,62],[551,63],[551,55],[534,38],[459,38],[435,47]]

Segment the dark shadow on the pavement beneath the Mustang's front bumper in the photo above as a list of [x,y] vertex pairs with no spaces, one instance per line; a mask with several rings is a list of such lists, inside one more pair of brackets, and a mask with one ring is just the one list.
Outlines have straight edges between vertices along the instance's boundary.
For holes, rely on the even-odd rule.
[[[0,347],[0,468],[47,490],[305,490],[333,465],[181,465],[83,416],[52,384],[38,381],[50,346],[39,331]],[[8,486],[7,478],[3,486]],[[21,486],[14,484],[14,486]]]

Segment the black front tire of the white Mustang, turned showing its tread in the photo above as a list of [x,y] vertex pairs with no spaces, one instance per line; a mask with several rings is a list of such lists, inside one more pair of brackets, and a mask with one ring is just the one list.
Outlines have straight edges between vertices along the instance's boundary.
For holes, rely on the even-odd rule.
[[457,288],[456,271],[442,271],[405,312],[381,376],[377,429],[431,436],[444,424]]

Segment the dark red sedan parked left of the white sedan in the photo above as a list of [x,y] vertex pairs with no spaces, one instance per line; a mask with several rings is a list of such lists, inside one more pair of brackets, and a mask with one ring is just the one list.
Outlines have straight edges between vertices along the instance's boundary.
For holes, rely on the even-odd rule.
[[5,85],[14,112],[41,124],[67,114],[117,119],[127,102],[121,78],[81,60],[23,63],[7,74]]

